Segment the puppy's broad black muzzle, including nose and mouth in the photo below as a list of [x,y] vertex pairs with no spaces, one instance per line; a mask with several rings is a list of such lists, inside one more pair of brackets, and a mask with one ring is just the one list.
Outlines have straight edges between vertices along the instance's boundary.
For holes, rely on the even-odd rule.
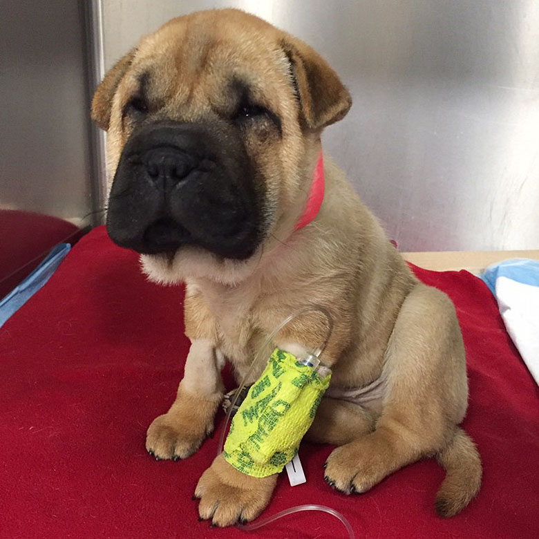
[[255,178],[243,144],[230,133],[205,124],[148,124],[120,156],[108,234],[141,254],[169,258],[190,245],[249,258],[263,237],[262,182]]

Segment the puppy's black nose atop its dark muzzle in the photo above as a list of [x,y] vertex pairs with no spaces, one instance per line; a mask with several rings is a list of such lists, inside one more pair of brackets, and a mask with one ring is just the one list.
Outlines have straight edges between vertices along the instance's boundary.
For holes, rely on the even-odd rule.
[[174,187],[196,167],[192,155],[172,146],[146,151],[143,161],[148,176],[162,189]]

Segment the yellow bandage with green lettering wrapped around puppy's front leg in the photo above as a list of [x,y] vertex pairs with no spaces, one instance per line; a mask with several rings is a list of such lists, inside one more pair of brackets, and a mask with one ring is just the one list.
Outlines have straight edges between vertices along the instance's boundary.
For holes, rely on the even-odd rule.
[[232,419],[225,460],[254,477],[281,472],[296,455],[330,378],[320,377],[292,354],[274,350]]

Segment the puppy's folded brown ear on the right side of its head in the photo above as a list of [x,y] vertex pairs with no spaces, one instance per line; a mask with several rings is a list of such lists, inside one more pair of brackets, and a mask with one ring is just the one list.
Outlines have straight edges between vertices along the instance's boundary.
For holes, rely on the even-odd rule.
[[310,46],[294,37],[286,37],[281,46],[292,66],[305,124],[310,129],[342,120],[352,106],[352,97],[328,62]]

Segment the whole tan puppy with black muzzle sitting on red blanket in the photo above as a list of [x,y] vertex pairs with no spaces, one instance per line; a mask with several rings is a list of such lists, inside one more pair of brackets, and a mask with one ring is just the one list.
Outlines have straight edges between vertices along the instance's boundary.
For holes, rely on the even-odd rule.
[[[334,318],[323,354],[334,374],[308,436],[339,446],[326,481],[362,493],[435,456],[447,471],[436,509],[452,516],[476,495],[482,471],[458,427],[468,388],[451,301],[417,281],[327,159],[321,211],[294,229],[321,131],[350,104],[314,50],[238,10],[173,19],[97,88],[93,118],[108,131],[114,176],[109,234],[142,254],[154,281],[187,283],[185,377],[146,448],[189,457],[214,428],[223,362],[243,377],[280,321],[319,304]],[[302,316],[275,345],[297,354],[323,334],[323,320]],[[196,487],[200,516],[219,526],[252,520],[275,484],[217,457]]]

